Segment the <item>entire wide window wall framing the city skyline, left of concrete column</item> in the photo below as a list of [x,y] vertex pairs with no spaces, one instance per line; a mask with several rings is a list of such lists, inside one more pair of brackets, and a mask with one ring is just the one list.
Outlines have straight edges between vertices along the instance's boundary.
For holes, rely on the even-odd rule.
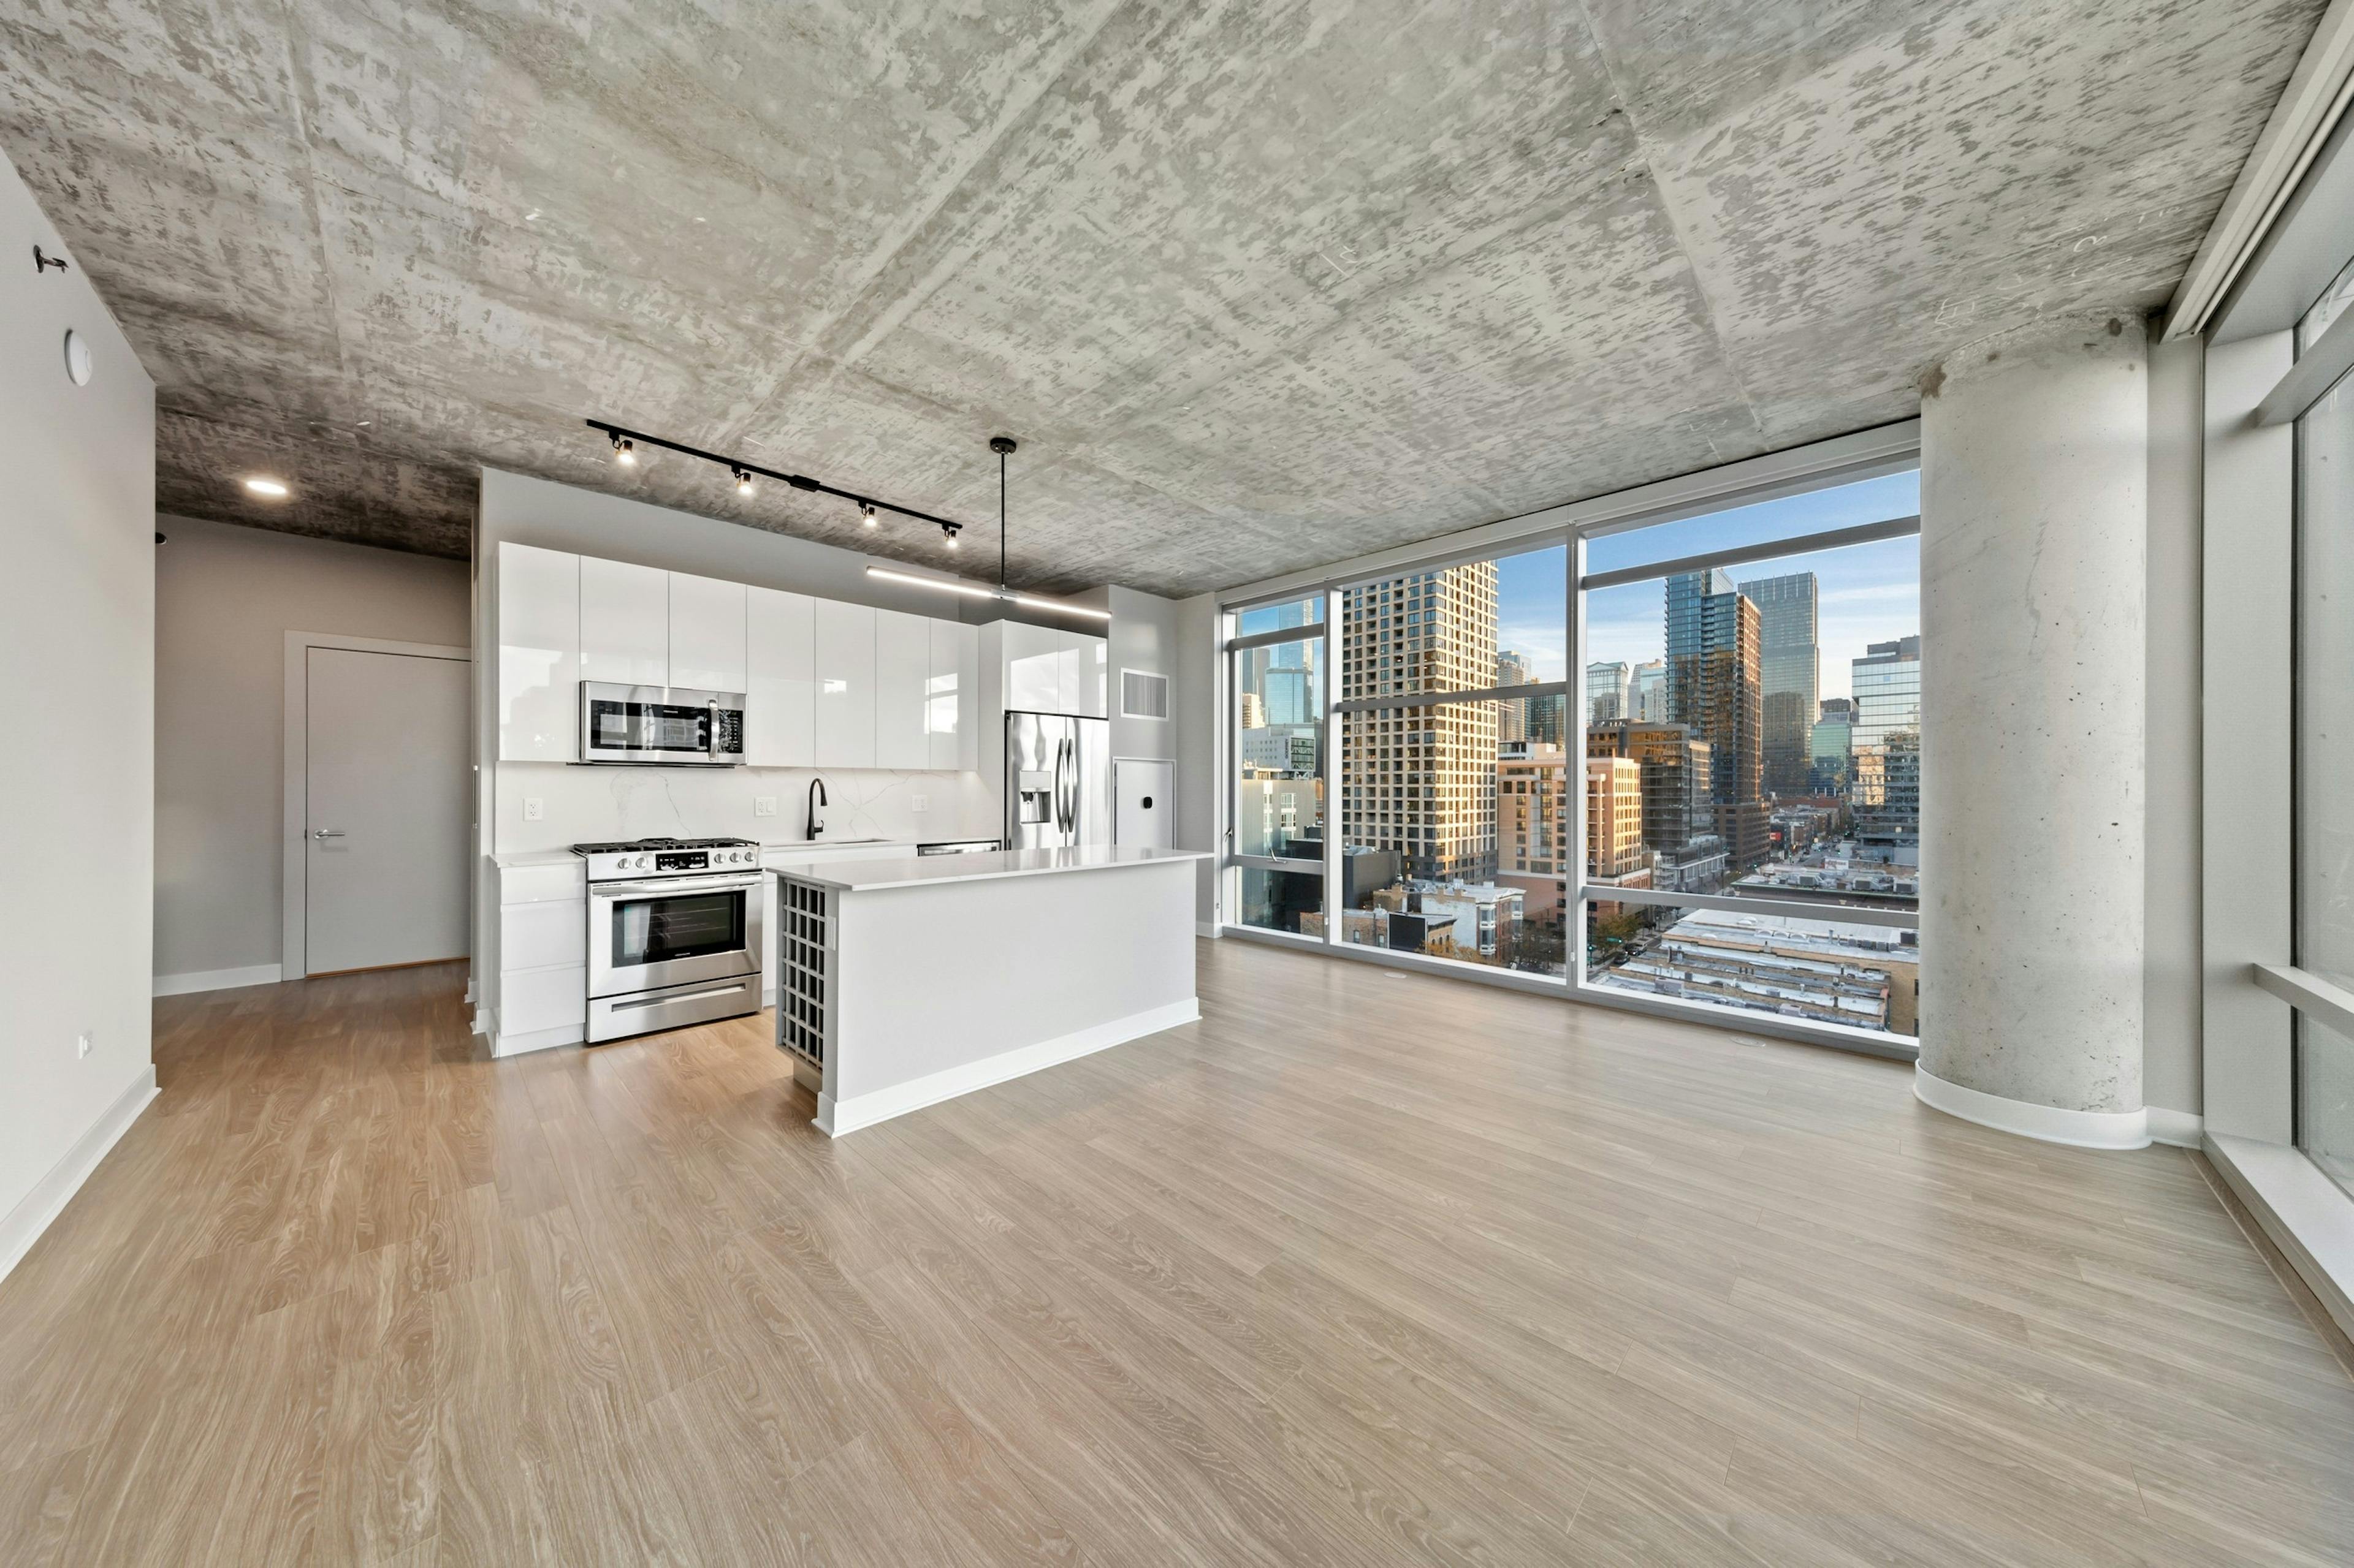
[[1229,607],[1226,923],[1907,1050],[1919,476],[1789,490]]

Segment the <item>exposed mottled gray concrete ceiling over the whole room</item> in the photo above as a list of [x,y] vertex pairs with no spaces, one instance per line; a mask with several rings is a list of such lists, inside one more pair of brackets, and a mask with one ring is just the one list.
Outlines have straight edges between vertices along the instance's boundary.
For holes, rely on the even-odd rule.
[[[1189,593],[1916,412],[2166,299],[2321,0],[19,0],[0,146],[165,511],[466,553],[473,469]],[[299,494],[266,509],[252,471]]]

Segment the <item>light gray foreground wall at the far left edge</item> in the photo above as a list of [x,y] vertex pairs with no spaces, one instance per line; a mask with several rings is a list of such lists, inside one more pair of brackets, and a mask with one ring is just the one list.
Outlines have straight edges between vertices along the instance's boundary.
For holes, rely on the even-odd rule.
[[[155,384],[0,160],[0,1271],[80,1180],[106,1114],[153,1083]],[[66,332],[92,351],[66,379]],[[75,1036],[89,1031],[87,1057]]]

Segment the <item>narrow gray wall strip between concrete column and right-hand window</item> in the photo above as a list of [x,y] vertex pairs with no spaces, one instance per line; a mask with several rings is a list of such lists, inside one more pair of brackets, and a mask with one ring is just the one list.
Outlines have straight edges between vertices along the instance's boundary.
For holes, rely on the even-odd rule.
[[2149,351],[2149,730],[2142,928],[2142,1097],[2199,1114],[2199,487],[2196,337]]

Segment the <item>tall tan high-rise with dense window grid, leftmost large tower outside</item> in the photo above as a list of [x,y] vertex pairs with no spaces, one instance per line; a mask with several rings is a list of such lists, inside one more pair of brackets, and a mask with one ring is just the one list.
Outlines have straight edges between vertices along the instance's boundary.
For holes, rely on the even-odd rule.
[[[1471,692],[1495,683],[1495,563],[1342,593],[1342,697]],[[1396,850],[1403,876],[1495,876],[1497,706],[1370,709],[1342,720],[1349,845]]]

